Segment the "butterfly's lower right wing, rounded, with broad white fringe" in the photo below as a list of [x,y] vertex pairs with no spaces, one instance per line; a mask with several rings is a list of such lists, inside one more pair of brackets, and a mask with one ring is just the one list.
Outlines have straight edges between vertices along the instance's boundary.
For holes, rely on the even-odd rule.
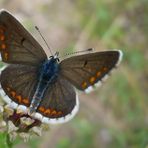
[[[78,111],[79,102],[73,86],[61,75],[51,84],[37,109],[44,123],[63,123]],[[37,118],[38,113],[35,113]]]

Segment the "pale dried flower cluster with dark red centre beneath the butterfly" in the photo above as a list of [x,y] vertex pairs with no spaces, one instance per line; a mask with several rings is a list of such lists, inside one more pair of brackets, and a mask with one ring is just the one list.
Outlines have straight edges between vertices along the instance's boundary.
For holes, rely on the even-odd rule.
[[28,141],[35,135],[41,136],[42,132],[48,129],[47,124],[43,124],[21,110],[12,109],[0,101],[0,131],[7,132],[11,141],[17,136]]

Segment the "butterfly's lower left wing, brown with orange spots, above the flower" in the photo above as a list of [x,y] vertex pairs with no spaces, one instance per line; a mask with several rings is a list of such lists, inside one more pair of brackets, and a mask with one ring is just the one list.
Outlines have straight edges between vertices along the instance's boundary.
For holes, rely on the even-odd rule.
[[37,68],[18,64],[8,66],[2,71],[0,82],[5,102],[12,104],[13,108],[18,105],[29,107],[37,84]]

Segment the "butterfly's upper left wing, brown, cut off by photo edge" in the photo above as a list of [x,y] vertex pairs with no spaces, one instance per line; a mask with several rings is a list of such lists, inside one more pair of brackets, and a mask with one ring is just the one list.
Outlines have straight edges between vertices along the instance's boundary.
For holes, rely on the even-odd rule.
[[47,59],[38,42],[5,10],[0,12],[0,52],[6,63],[37,65]]

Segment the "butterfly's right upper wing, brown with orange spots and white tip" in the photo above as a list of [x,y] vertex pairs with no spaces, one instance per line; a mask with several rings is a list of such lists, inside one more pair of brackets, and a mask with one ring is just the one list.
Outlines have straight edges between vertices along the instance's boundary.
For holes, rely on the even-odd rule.
[[122,58],[122,52],[104,51],[71,57],[60,63],[61,74],[79,90],[89,92],[94,84],[116,67]]

